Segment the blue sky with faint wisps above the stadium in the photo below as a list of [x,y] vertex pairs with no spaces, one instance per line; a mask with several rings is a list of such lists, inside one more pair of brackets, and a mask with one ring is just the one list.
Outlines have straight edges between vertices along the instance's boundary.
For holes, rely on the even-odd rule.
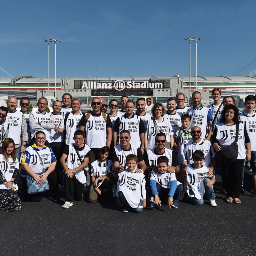
[[[250,0],[9,0],[1,9],[0,67],[14,77],[48,76],[43,39],[50,38],[61,41],[56,45],[57,77],[94,77],[96,65],[98,77],[189,76],[187,37],[202,38],[198,75],[234,75],[256,58],[256,2]],[[195,62],[191,65],[195,75]],[[255,68],[256,61],[238,75]],[[0,77],[6,76],[0,70]]]

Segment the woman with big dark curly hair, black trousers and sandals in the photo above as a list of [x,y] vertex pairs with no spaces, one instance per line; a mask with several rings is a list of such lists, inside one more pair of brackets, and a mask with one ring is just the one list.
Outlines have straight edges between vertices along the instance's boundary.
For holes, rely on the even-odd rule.
[[[216,152],[225,150],[235,141],[236,124],[239,124],[237,139],[238,155],[235,163],[228,161],[221,163],[223,186],[227,192],[226,202],[240,204],[239,199],[242,171],[245,158],[250,161],[251,143],[244,124],[239,122],[239,110],[234,105],[227,105],[223,108],[220,123],[215,126],[213,132],[213,147]],[[246,153],[247,150],[247,153]]]

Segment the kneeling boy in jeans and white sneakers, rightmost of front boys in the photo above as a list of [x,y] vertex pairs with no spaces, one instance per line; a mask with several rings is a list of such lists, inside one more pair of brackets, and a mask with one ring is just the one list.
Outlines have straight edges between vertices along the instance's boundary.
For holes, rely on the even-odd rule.
[[217,206],[213,191],[215,178],[213,175],[208,175],[208,168],[202,165],[204,159],[203,152],[201,150],[196,150],[192,157],[194,163],[188,164],[185,167],[186,180],[184,189],[186,193],[184,199],[195,205],[201,205],[203,204],[203,195],[205,191],[210,206]]

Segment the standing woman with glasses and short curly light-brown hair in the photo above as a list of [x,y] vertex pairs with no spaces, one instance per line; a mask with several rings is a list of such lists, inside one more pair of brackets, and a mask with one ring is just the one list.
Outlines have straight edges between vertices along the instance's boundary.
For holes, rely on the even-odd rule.
[[150,150],[155,148],[155,137],[158,132],[163,132],[166,135],[166,148],[173,147],[173,131],[171,121],[164,118],[165,107],[161,103],[155,103],[151,109],[152,119],[148,121],[145,132],[145,148]]

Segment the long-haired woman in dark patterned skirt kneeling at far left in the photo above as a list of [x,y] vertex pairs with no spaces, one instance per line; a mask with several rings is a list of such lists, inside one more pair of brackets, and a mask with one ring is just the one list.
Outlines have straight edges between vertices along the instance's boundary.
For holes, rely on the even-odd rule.
[[3,141],[0,152],[0,210],[7,212],[21,209],[21,200],[17,194],[19,161],[15,153],[13,139]]

